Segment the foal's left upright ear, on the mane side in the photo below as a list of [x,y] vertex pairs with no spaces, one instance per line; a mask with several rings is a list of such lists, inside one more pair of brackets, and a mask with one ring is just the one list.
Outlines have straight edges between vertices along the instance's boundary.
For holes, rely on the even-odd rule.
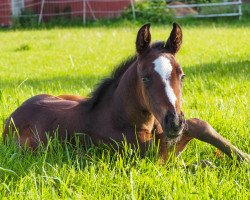
[[137,33],[136,38],[136,51],[143,53],[149,46],[151,41],[150,24],[143,25]]

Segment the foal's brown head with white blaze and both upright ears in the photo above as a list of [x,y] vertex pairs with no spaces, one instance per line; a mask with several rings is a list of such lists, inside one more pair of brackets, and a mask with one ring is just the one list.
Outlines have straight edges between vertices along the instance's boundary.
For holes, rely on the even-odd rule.
[[181,111],[184,73],[175,58],[181,47],[182,31],[174,23],[168,40],[151,46],[149,28],[150,24],[142,26],[136,39],[141,101],[159,121],[166,136],[175,138],[184,127]]

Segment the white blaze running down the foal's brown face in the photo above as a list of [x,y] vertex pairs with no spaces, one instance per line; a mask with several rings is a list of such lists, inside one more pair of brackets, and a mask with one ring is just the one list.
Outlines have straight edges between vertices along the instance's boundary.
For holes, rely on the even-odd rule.
[[170,101],[170,103],[175,108],[176,96],[174,93],[173,88],[170,85],[170,78],[172,72],[172,65],[170,60],[164,56],[160,56],[159,58],[154,60],[155,71],[162,77],[163,81],[165,82],[165,92]]

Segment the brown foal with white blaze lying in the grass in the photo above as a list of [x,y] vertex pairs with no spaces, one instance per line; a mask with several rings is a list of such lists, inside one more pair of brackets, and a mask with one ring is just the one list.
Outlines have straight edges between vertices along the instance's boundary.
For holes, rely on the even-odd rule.
[[[122,62],[84,98],[74,95],[40,94],[26,100],[7,119],[3,139],[10,135],[20,146],[36,149],[50,138],[90,137],[94,145],[113,145],[126,140],[145,154],[157,142],[159,157],[179,155],[193,138],[209,143],[229,157],[250,161],[213,127],[198,118],[185,119],[182,112],[182,82],[185,74],[176,60],[182,44],[177,23],[168,39],[151,44],[150,24],[136,37],[136,54]],[[82,144],[85,139],[81,138]],[[174,150],[174,151],[173,151]]]

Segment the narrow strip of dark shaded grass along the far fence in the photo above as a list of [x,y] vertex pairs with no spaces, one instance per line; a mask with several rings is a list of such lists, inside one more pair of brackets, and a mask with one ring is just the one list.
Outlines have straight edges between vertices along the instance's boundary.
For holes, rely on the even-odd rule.
[[[243,20],[239,20],[238,18],[215,18],[215,19],[199,19],[199,18],[187,18],[187,19],[174,19],[172,21],[167,21],[166,23],[157,23],[151,22],[154,27],[172,27],[173,22],[179,23],[182,27],[246,27],[250,25],[249,22],[250,17],[243,18]],[[114,28],[124,28],[124,27],[134,27],[138,29],[140,26],[148,22],[147,19],[145,21],[136,21],[136,20],[128,20],[128,19],[119,19],[119,20],[99,20],[96,22],[89,22],[84,25],[82,22],[64,22],[64,23],[44,23],[42,25],[36,25],[31,27],[0,27],[0,32],[8,32],[13,30],[50,30],[55,28],[60,29],[74,29],[74,28],[105,28],[105,29],[114,29]]]

